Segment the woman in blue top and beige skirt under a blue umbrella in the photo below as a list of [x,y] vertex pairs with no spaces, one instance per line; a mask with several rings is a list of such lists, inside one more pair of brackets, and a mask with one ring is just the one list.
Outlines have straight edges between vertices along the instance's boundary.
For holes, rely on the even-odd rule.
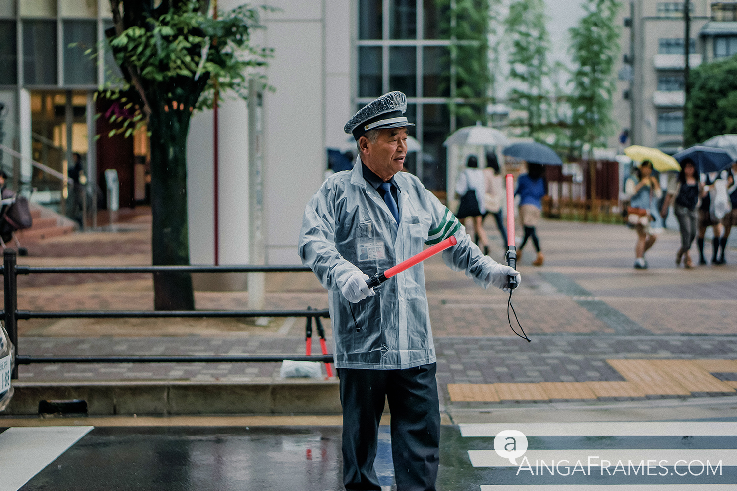
[[[532,239],[532,244],[537,251],[537,256],[532,261],[532,265],[542,266],[545,262],[545,256],[542,255],[540,241],[535,229],[542,215],[542,197],[548,194],[545,177],[543,177],[545,172],[543,165],[560,166],[563,162],[553,149],[539,143],[510,145],[502,153],[527,162],[527,174],[520,175],[517,179],[517,191],[514,191],[514,195],[520,197],[520,219],[522,219],[525,230],[522,243],[517,248],[517,259],[521,260],[522,250],[527,244],[527,240]],[[514,212],[507,210],[507,213]],[[507,233],[514,233],[514,230],[508,230]]]

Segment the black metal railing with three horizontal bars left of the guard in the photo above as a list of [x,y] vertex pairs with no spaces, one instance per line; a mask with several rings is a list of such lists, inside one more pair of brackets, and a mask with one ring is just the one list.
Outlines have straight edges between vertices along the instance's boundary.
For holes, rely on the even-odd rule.
[[0,273],[4,277],[4,310],[0,317],[10,342],[15,346],[15,368],[12,378],[18,378],[18,365],[32,363],[228,363],[273,361],[321,361],[331,363],[332,355],[182,355],[182,356],[34,356],[21,355],[18,349],[18,320],[24,319],[123,319],[167,317],[330,317],[323,310],[247,310],[247,311],[27,311],[18,310],[18,275],[80,274],[80,273],[160,273],[160,272],[307,272],[298,265],[242,266],[24,266],[16,263],[15,250],[5,250]]

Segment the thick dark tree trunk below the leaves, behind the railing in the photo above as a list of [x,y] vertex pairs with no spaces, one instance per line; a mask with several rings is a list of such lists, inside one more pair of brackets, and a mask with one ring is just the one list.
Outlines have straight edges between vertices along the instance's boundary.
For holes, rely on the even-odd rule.
[[[188,265],[186,135],[191,113],[181,105],[162,109],[153,110],[149,124],[153,264]],[[189,273],[155,273],[153,290],[156,310],[195,309]]]

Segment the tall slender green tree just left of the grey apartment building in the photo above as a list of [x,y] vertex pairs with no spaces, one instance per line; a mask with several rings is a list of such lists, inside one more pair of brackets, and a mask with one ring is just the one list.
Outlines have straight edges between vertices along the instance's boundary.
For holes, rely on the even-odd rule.
[[619,54],[619,29],[616,24],[621,3],[617,0],[584,0],[586,15],[576,27],[569,29],[570,52],[577,68],[570,84],[573,92],[569,103],[572,111],[570,138],[574,153],[581,154],[584,144],[593,147],[606,144],[614,129],[612,74]]

